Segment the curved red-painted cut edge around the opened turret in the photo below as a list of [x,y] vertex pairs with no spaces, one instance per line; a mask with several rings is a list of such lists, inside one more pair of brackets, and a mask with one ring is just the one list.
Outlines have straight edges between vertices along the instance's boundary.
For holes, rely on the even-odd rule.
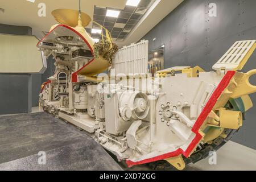
[[[51,34],[51,32],[52,32],[53,30],[55,30],[57,27],[65,27],[65,28],[68,28],[69,30],[75,32],[75,34],[77,34],[78,36],[80,36],[80,37],[82,38],[82,40],[84,40],[84,42],[86,43],[86,45],[89,47],[90,52],[91,52],[92,55],[94,56],[93,49],[92,49],[92,47],[90,46],[90,44],[88,43],[88,41],[84,38],[84,36],[82,36],[82,35],[81,35],[79,32],[77,32],[75,29],[73,29],[73,28],[71,28],[71,27],[69,27],[69,26],[66,26],[65,24],[59,24],[59,25],[57,25],[57,26],[56,26],[55,28],[53,28],[46,36],[44,36],[44,38],[41,39],[41,40],[38,42],[38,44],[39,44],[40,42],[42,42],[49,34]],[[38,44],[37,44],[36,46],[38,46]],[[94,59],[90,60],[86,65],[84,65],[84,67],[82,67],[81,69],[79,69],[79,71],[77,71],[77,72],[75,72],[75,73],[72,73],[72,82],[77,82],[77,75],[78,75],[78,73],[79,73],[82,69],[84,69],[85,67],[87,67],[90,63],[92,63],[92,61],[94,61]]]

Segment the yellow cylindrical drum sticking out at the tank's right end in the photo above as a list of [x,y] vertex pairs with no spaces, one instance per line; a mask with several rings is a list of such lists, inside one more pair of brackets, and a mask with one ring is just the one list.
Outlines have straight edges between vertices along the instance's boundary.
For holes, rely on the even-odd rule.
[[237,130],[242,126],[241,111],[226,110],[223,107],[218,110],[220,111],[220,127]]

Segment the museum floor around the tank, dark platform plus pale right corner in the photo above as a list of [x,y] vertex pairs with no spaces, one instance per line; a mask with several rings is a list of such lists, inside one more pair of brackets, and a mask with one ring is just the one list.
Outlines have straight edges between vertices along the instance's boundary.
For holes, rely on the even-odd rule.
[[[124,164],[116,163],[100,145],[75,126],[55,121],[51,115],[41,113],[38,107],[33,107],[32,113],[0,115],[0,169],[150,170],[143,165],[128,169]],[[36,151],[46,151],[49,156],[46,166],[35,162],[38,158]],[[256,151],[232,141],[217,151],[216,159],[216,165],[210,165],[209,159],[204,159],[189,164],[186,170],[256,169]]]

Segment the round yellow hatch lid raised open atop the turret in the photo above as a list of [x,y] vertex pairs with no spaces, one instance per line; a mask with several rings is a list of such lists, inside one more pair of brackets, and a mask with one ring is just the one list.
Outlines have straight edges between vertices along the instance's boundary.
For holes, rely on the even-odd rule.
[[[79,22],[79,11],[69,9],[57,9],[52,11],[52,15],[60,24],[66,24],[71,27],[76,27]],[[86,27],[92,21],[92,18],[86,13],[81,12],[81,26]]]

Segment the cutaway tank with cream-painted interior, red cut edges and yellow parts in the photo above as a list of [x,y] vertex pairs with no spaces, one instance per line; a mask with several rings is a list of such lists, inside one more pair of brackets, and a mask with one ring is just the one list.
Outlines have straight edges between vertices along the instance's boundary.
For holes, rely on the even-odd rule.
[[[217,150],[242,126],[243,114],[253,106],[248,95],[256,86],[249,78],[256,69],[237,71],[253,53],[255,40],[236,42],[213,66],[215,72],[174,67],[155,77],[136,71],[97,75],[112,66],[114,44],[104,27],[106,34],[94,44],[79,21],[76,27],[53,26],[38,44],[45,56],[56,60],[55,75],[42,86],[40,104],[92,134],[118,160],[126,160],[129,167],[150,163],[164,169],[168,162],[184,169]],[[122,59],[122,52],[116,59]]]

